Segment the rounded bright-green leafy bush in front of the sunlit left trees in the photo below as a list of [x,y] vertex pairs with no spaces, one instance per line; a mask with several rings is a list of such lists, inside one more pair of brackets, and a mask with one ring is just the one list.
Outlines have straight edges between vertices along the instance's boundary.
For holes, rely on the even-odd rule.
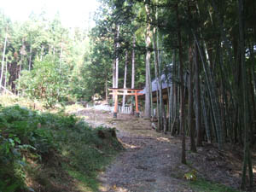
[[46,107],[67,101],[68,69],[56,65],[53,55],[47,55],[43,61],[36,61],[31,72],[23,71],[20,90],[32,99],[45,102]]

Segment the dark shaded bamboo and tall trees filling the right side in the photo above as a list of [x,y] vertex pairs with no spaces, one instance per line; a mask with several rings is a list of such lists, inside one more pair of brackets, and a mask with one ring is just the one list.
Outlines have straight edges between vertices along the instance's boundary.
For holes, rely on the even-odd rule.
[[[240,144],[244,146],[241,187],[253,185],[250,148],[256,131],[253,22],[256,2],[109,0],[102,3],[102,12],[98,13],[102,20],[98,20],[94,30],[105,39],[104,44],[112,46],[108,49],[112,56],[105,56],[112,61],[113,85],[118,87],[116,82],[121,76],[118,70],[125,66],[127,51],[135,49],[135,84],[142,85],[143,79],[146,88],[144,117],[151,118],[156,107],[157,131],[183,136],[182,162],[186,163],[188,136],[194,152],[204,142],[218,143],[220,150],[226,149],[226,143]],[[134,54],[131,55],[133,61]],[[168,107],[163,101],[162,74],[172,83],[168,88]],[[156,104],[151,94],[153,79],[157,79],[159,86]],[[249,183],[245,179],[247,170]]]

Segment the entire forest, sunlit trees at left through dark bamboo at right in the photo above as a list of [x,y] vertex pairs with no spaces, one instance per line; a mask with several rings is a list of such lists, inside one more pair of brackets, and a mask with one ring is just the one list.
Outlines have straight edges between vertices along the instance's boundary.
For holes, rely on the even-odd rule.
[[[0,12],[2,90],[45,103],[108,99],[109,87],[145,86],[145,113],[158,131],[244,146],[241,187],[253,185],[256,131],[256,2],[253,0],[102,0],[91,29],[67,29],[58,15],[12,22]],[[172,74],[169,108],[150,82]],[[186,75],[187,74],[187,75]],[[181,78],[187,77],[187,78]],[[111,100],[110,100],[111,102]],[[195,141],[196,138],[196,141]]]

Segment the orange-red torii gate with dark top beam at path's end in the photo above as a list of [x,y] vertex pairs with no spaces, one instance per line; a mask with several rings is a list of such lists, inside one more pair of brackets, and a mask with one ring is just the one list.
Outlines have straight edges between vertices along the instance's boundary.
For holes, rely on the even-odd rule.
[[118,96],[135,96],[135,106],[136,106],[136,115],[138,117],[138,106],[137,106],[137,96],[143,95],[143,93],[138,93],[141,89],[119,89],[119,88],[109,88],[108,90],[112,90],[109,95],[114,96],[114,108],[113,108],[113,117],[117,118],[118,113]]

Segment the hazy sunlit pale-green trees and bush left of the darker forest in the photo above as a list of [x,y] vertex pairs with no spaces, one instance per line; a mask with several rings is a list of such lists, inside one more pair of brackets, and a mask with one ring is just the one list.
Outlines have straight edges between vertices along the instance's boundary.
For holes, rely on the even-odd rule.
[[[1,42],[6,34],[8,90],[42,100],[46,107],[84,99],[84,93],[90,90],[84,87],[84,76],[80,75],[84,55],[89,55],[86,30],[68,31],[62,26],[60,15],[49,19],[44,11],[30,15],[23,23],[12,23],[0,11]],[[0,48],[3,50],[3,44]],[[0,56],[2,58],[3,51]]]

